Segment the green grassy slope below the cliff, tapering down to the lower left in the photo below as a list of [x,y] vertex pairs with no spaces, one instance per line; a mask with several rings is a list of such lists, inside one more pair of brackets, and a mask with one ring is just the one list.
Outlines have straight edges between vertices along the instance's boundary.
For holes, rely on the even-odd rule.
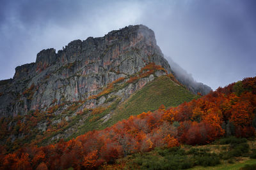
[[[88,131],[104,129],[143,111],[157,110],[161,104],[166,107],[178,106],[184,101],[191,101],[196,97],[198,96],[189,92],[185,87],[177,85],[168,76],[160,76],[134,93],[126,101],[120,103],[120,99],[114,99],[115,101],[108,109],[100,114],[90,115],[84,124],[78,127],[77,132],[66,140],[76,138],[76,136]],[[104,122],[102,118],[109,113],[112,113],[112,117]]]

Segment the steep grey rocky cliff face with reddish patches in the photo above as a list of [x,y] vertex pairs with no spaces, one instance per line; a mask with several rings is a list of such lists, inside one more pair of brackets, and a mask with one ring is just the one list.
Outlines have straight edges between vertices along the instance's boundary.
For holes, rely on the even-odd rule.
[[[165,69],[154,76],[171,73],[154,32],[144,25],[130,25],[100,38],[75,40],[58,53],[53,48],[42,50],[35,63],[16,67],[13,79],[0,81],[0,117],[44,111],[56,103],[85,101],[118,78],[129,80],[150,63]],[[154,76],[142,78],[116,95],[128,97]],[[86,100],[84,106],[95,108],[106,99],[108,96]]]

